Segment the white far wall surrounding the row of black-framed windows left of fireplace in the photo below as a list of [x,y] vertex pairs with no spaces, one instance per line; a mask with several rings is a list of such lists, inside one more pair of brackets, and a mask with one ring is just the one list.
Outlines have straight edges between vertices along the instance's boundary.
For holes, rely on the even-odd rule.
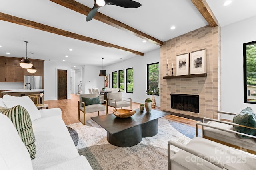
[[[112,64],[110,66],[104,67],[107,74],[109,74],[110,88],[112,88],[112,72],[118,70],[124,70],[126,74],[127,68],[133,68],[134,71],[134,91],[133,93],[123,93],[123,97],[132,98],[133,102],[145,103],[146,98],[151,98],[151,95],[147,96],[147,64],[160,62],[160,48],[154,51],[145,53],[144,56],[136,56],[131,59],[120,61],[119,63]],[[160,66],[160,64],[159,64]],[[160,69],[159,69],[160,70]],[[125,75],[126,77],[126,75]],[[104,80],[102,80],[104,81]],[[103,86],[102,82],[102,86]],[[126,89],[126,86],[124,87]],[[160,106],[160,96],[155,96],[156,106]]]

